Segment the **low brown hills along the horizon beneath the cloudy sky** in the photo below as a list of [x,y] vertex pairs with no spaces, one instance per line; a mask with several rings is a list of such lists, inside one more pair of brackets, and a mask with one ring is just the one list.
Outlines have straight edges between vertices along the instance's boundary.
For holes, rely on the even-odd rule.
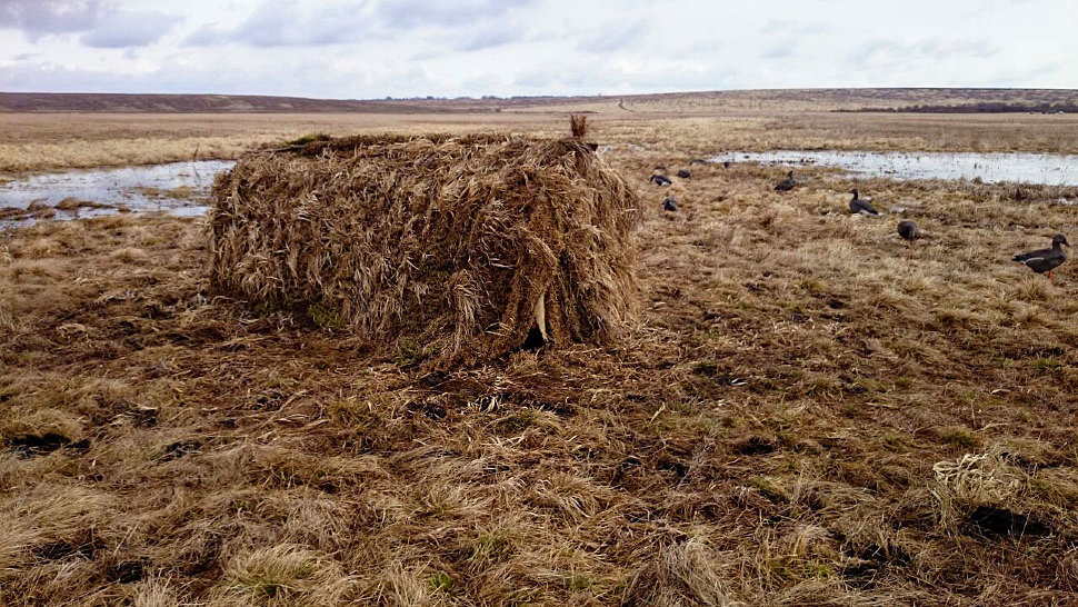
[[[0,112],[428,113],[597,111],[1016,111],[1068,108],[1074,89],[769,89],[590,97],[308,99],[248,94],[0,92]],[[994,109],[995,108],[995,109]]]

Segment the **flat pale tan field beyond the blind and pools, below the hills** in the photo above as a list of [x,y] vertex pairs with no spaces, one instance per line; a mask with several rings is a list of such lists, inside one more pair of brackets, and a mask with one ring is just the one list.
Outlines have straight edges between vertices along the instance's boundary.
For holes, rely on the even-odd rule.
[[[0,113],[0,173],[236,158],[311,132],[561,133],[570,108],[488,113]],[[578,108],[579,109],[579,108]],[[1078,115],[595,108],[595,137],[706,156],[727,150],[879,149],[1078,152]]]

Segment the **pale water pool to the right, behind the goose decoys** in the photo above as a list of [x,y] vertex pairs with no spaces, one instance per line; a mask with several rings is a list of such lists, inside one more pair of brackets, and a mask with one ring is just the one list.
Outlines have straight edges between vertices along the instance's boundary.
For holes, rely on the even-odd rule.
[[849,171],[854,178],[974,180],[1078,186],[1078,155],[1028,152],[877,152],[795,151],[729,152],[713,162],[825,166]]

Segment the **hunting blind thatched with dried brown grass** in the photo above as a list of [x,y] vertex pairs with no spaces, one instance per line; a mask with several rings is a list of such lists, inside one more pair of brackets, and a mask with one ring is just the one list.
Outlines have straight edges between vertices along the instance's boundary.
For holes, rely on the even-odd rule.
[[635,308],[626,182],[577,139],[355,137],[256,152],[220,177],[212,278],[441,362],[539,329],[609,344]]

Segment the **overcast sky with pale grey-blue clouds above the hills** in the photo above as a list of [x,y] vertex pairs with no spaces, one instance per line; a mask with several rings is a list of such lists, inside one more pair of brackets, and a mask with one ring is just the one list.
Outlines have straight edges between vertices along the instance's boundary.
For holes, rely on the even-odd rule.
[[1078,88],[1076,31],[1078,0],[0,0],[0,90]]

